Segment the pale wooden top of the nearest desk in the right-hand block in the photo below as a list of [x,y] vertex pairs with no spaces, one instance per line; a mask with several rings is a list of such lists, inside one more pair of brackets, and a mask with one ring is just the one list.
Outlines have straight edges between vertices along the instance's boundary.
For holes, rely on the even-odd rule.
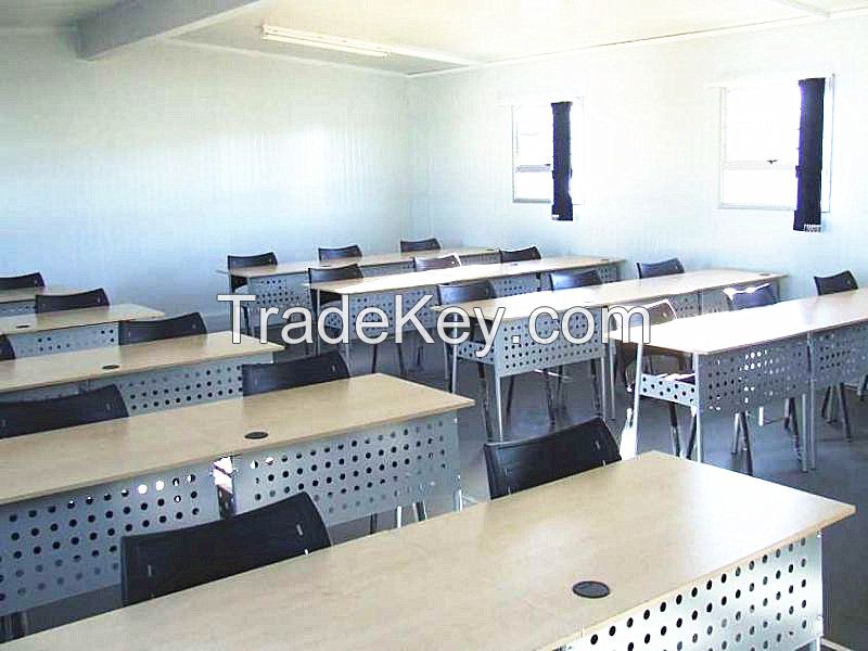
[[[868,321],[868,290],[783,301],[767,307],[701,315],[651,328],[650,345],[713,355]],[[638,341],[637,329],[631,341]],[[623,340],[621,332],[610,337]]]

